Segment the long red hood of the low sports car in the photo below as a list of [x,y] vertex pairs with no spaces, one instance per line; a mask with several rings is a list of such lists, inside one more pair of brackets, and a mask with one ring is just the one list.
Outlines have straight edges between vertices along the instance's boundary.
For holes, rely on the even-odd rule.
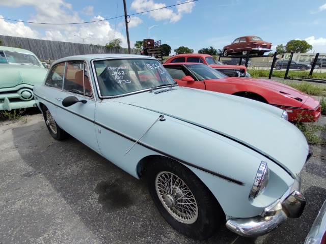
[[265,80],[265,79],[241,79],[237,77],[226,77],[224,78],[226,81],[248,84],[248,85],[256,85],[260,87],[264,87],[269,90],[274,90],[277,93],[282,94],[283,96],[296,99],[297,101],[302,100],[302,105],[307,101],[309,96],[305,93],[300,92],[297,89],[292,88],[291,86],[282,84],[273,80]]

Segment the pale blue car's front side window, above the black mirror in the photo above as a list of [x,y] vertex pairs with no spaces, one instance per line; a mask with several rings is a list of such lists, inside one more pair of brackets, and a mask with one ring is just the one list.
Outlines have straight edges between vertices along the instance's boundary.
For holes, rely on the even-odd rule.
[[92,97],[86,63],[75,60],[67,62],[63,89],[67,92]]

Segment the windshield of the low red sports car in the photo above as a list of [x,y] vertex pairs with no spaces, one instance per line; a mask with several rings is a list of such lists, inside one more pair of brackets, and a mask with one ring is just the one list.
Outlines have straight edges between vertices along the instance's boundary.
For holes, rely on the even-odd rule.
[[221,72],[210,68],[207,65],[185,65],[185,67],[191,71],[199,80],[212,80],[221,79],[227,77]]

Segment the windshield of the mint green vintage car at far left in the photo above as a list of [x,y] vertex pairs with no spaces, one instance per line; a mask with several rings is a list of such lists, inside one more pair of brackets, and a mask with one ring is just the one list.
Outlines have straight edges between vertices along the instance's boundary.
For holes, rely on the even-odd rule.
[[32,54],[1,51],[0,63],[12,63],[12,64],[25,64],[25,65],[41,65],[37,58]]

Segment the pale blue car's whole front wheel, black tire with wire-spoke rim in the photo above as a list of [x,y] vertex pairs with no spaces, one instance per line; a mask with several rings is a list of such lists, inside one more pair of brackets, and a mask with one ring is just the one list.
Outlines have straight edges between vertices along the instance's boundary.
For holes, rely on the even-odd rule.
[[212,193],[182,164],[168,159],[151,162],[146,169],[146,181],[162,217],[182,234],[207,239],[225,221]]

